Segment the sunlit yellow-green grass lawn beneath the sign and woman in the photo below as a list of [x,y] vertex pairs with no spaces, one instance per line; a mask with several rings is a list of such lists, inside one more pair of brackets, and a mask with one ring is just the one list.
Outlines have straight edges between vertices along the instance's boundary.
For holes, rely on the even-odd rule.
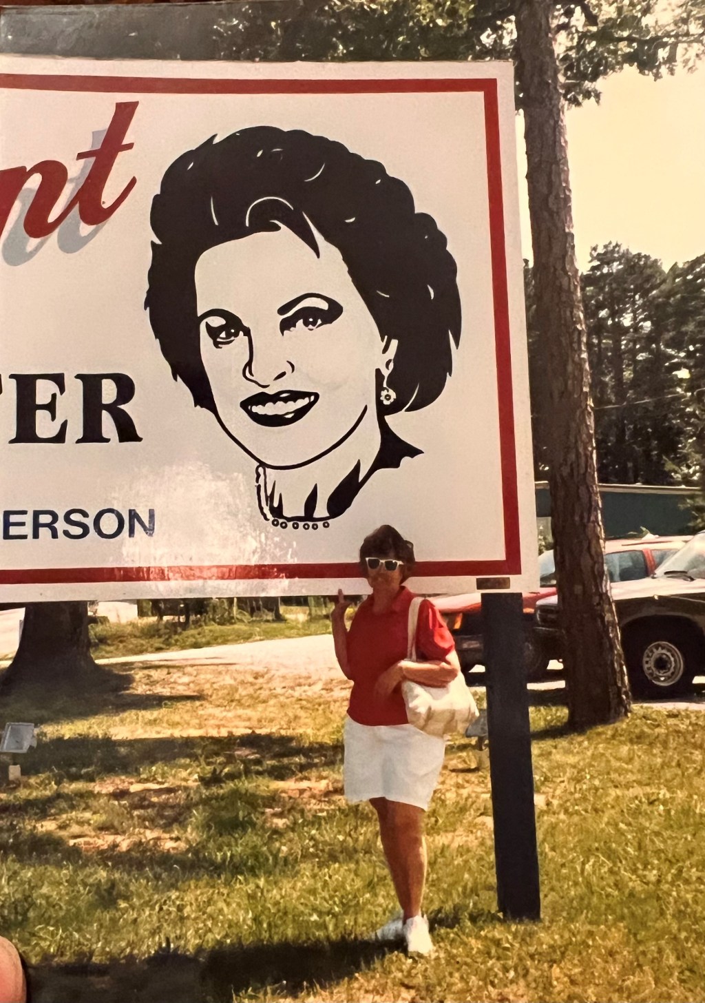
[[703,1000],[705,715],[565,735],[533,708],[540,924],[497,916],[488,772],[450,745],[414,961],[360,939],[394,902],[342,797],[345,680],[119,672],[121,693],[3,708],[45,721],[0,799],[0,931],[35,1003]]

